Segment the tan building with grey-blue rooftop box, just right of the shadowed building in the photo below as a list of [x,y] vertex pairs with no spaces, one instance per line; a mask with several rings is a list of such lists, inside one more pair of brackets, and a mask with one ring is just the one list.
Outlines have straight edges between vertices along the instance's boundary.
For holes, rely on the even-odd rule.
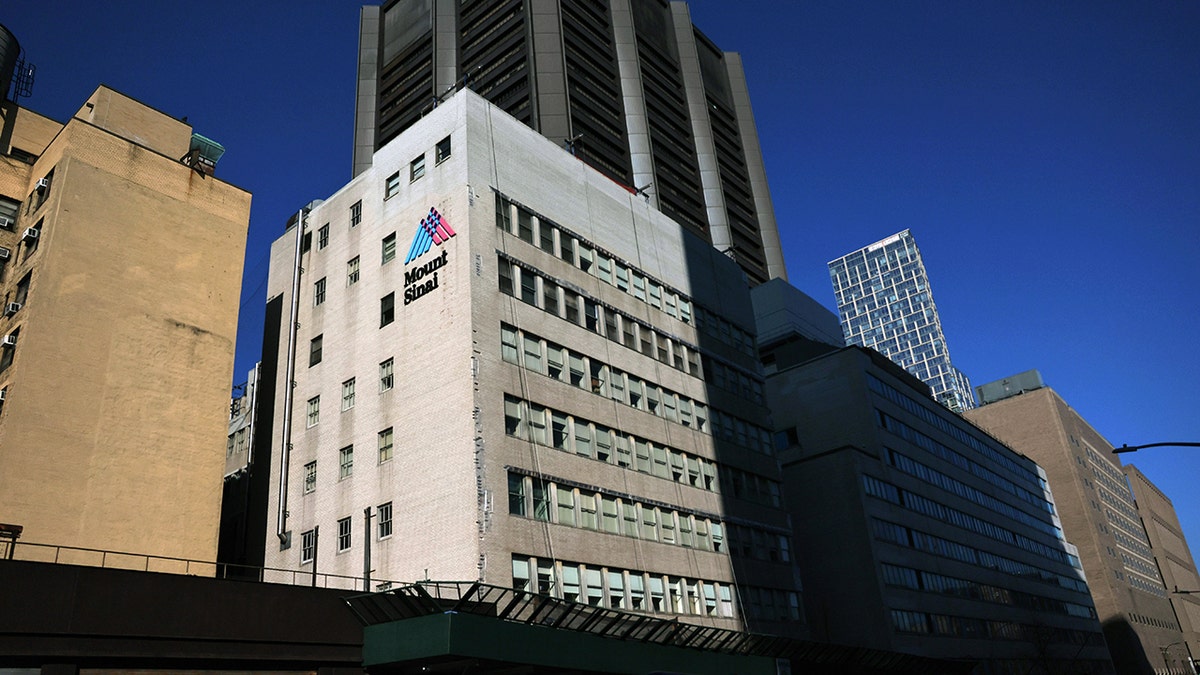
[[1163,673],[1159,647],[1183,633],[1112,446],[1037,371],[984,384],[979,398],[967,418],[1045,467],[1117,671]]

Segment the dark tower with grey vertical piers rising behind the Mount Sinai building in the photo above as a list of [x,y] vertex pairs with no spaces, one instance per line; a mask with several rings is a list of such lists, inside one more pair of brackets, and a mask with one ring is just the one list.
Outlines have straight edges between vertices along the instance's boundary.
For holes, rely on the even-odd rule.
[[666,0],[362,8],[354,174],[467,86],[732,257],[787,277],[742,60]]

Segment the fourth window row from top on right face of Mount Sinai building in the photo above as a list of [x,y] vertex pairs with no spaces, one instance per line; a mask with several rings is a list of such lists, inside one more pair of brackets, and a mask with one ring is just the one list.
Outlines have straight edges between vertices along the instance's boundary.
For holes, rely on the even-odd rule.
[[556,411],[516,396],[504,396],[504,431],[564,452],[594,458],[607,464],[666,478],[764,506],[780,506],[780,484],[756,473],[695,456],[596,424],[582,417]]

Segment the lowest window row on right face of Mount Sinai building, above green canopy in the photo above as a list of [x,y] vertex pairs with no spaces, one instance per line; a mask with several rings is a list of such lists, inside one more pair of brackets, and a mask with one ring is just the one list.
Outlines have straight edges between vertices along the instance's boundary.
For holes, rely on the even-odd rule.
[[[726,581],[554,561],[520,554],[512,555],[512,587],[610,609],[734,616],[733,585]],[[746,616],[769,621],[800,619],[800,598],[794,591],[745,586],[740,590],[742,610]]]

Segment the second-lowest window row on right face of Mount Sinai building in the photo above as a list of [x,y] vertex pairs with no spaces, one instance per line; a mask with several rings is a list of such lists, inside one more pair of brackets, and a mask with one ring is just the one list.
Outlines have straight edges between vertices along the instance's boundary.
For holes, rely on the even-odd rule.
[[514,471],[509,472],[509,513],[706,551],[733,550],[745,557],[772,562],[792,558],[791,538],[785,534]]

